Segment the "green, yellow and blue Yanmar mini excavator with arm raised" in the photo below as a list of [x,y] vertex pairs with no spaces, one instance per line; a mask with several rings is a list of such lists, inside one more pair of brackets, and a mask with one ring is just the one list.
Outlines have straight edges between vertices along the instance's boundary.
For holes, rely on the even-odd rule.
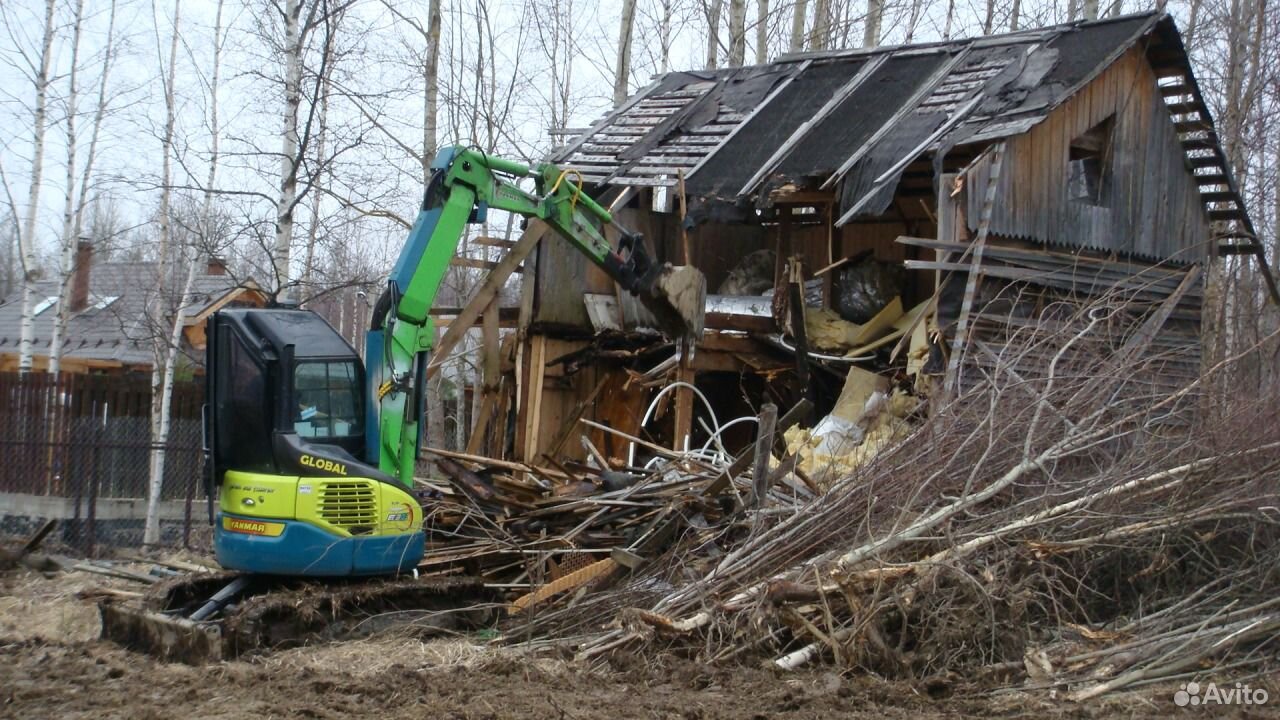
[[[517,184],[530,176],[532,192]],[[374,305],[364,363],[310,310],[211,315],[205,480],[215,555],[228,573],[174,583],[141,611],[102,603],[104,637],[165,657],[216,659],[274,642],[280,625],[297,629],[297,618],[278,618],[298,606],[284,596],[303,592],[314,601],[317,584],[340,588],[338,600],[323,603],[329,611],[379,592],[398,606],[422,593],[431,596],[428,605],[468,600],[477,583],[429,587],[412,577],[425,548],[413,469],[431,304],[466,225],[485,222],[492,210],[547,223],[637,296],[678,347],[691,348],[701,336],[701,273],[655,261],[639,234],[584,192],[575,170],[529,168],[474,147],[442,150]],[[617,234],[616,247],[607,233]],[[262,618],[275,621],[268,626]]]

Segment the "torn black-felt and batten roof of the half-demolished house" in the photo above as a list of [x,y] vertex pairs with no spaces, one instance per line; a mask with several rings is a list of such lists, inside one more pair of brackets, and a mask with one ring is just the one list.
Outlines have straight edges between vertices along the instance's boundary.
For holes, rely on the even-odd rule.
[[[1021,135],[1142,46],[1211,219],[1252,234],[1169,15],[1144,13],[948,42],[809,53],[657,78],[553,158],[595,184],[672,187],[690,214],[765,205],[790,184],[835,190],[837,224],[878,215],[906,167]],[[1213,181],[1213,182],[1210,182]]]

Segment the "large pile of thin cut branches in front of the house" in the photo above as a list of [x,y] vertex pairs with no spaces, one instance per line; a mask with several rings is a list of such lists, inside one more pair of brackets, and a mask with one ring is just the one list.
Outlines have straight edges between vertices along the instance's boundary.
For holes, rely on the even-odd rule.
[[1115,332],[1130,311],[1047,309],[824,495],[677,537],[509,637],[1078,698],[1262,671],[1280,651],[1280,388],[1233,389],[1253,350],[1157,382],[1158,343]]

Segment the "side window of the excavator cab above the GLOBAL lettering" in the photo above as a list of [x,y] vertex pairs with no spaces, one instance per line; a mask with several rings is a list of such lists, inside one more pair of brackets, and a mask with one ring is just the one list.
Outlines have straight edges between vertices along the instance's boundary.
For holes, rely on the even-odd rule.
[[293,430],[298,437],[364,434],[360,380],[352,361],[306,361],[293,369]]

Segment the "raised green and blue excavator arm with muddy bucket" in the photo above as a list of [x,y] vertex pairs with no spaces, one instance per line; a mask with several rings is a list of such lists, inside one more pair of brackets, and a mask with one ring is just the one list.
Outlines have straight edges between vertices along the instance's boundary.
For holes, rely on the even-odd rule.
[[[517,184],[530,176],[534,192]],[[618,225],[608,210],[582,192],[575,170],[550,163],[529,168],[461,146],[442,150],[433,163],[422,209],[366,337],[365,364],[372,393],[366,404],[366,456],[370,461],[376,457],[379,469],[407,486],[413,482],[422,384],[434,340],[430,309],[466,225],[484,222],[489,210],[545,222],[636,295],[659,328],[682,346],[701,334],[707,293],[701,273],[655,263],[639,234]],[[620,237],[617,247],[605,237],[611,225]]]

